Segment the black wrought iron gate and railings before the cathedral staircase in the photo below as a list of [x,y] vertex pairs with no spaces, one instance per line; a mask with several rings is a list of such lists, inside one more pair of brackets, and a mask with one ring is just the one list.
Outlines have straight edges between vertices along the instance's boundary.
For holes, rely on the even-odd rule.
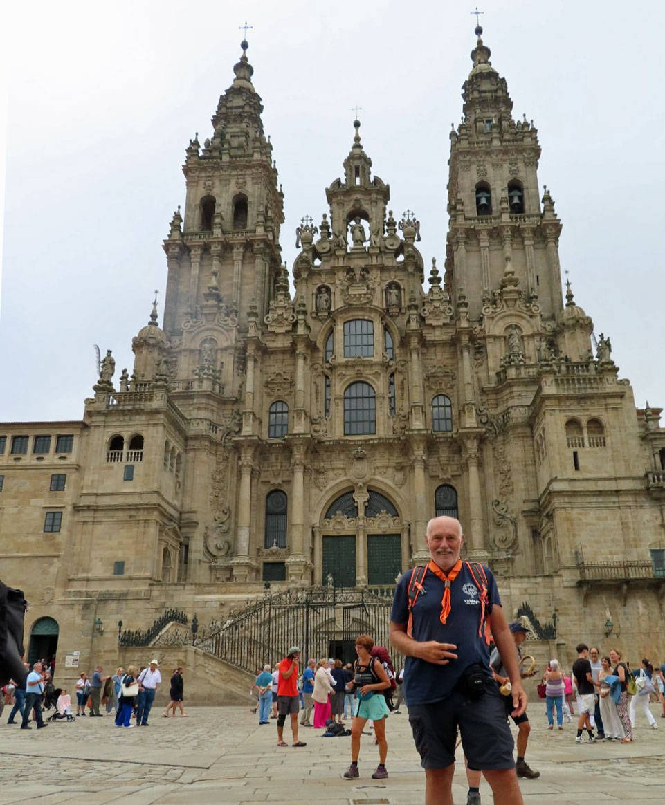
[[232,610],[225,624],[198,640],[196,647],[254,674],[266,663],[275,667],[289,646],[300,647],[304,662],[330,656],[349,662],[355,658],[355,638],[366,632],[377,645],[386,646],[399,667],[403,658],[390,650],[388,641],[392,597],[392,588],[266,593]]

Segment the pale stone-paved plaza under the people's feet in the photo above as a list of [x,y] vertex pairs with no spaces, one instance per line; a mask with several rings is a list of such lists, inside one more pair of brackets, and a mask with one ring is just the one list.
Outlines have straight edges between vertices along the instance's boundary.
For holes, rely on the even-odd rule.
[[[659,715],[659,705],[651,709]],[[0,802],[300,805],[325,799],[328,805],[415,805],[424,800],[424,775],[406,712],[390,716],[386,725],[390,777],[370,778],[378,752],[372,738],[363,737],[361,776],[353,782],[342,777],[350,738],[323,739],[321,730],[302,729],[304,749],[279,749],[274,724],[260,728],[246,707],[188,712],[188,719],[169,720],[154,713],[149,732],[114,729],[109,715],[49,725],[30,735],[2,723]],[[541,774],[520,781],[527,805],[665,801],[665,731],[638,721],[633,744],[576,745],[574,723],[563,733],[548,733],[543,703],[531,703],[529,712],[527,760]],[[461,749],[457,761],[453,796],[462,805]],[[481,799],[483,805],[493,802],[484,781]]]

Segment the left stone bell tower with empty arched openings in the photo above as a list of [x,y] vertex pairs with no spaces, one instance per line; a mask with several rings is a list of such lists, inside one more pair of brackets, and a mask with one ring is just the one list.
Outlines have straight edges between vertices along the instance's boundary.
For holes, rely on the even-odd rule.
[[201,149],[197,134],[186,152],[184,220],[178,208],[164,242],[169,338],[185,319],[199,318],[206,305],[209,314],[218,308],[246,322],[256,297],[262,318],[279,272],[283,194],[263,132],[261,98],[251,81],[249,45],[243,41],[241,47],[236,77],[213,116],[212,137]]

